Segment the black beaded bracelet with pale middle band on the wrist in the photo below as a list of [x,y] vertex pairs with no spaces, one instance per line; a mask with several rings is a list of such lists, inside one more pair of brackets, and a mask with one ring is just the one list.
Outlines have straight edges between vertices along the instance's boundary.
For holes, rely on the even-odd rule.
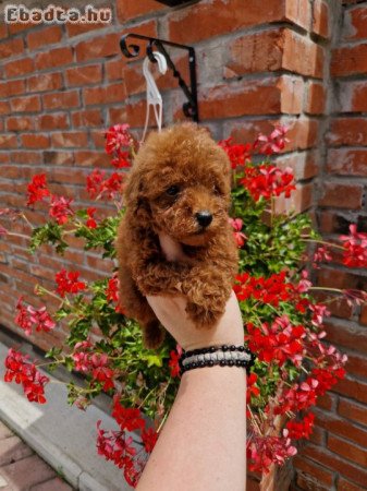
[[244,346],[210,346],[183,351],[180,358],[181,373],[203,367],[243,367],[247,373],[255,363],[255,355]]

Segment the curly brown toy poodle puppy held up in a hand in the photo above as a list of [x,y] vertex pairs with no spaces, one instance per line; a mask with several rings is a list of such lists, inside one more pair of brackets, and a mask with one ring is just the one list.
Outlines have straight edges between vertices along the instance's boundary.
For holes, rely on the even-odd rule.
[[[147,347],[163,339],[147,295],[184,295],[197,327],[209,328],[223,314],[237,271],[230,190],[225,152],[195,124],[151,133],[140,147],[125,188],[117,251],[121,303],[142,325]],[[168,261],[159,232],[178,241],[187,261]]]

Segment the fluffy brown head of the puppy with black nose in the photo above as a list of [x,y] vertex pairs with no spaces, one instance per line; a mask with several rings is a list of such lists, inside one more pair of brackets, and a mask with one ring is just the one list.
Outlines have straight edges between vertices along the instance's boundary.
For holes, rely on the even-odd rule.
[[125,199],[135,219],[156,232],[203,246],[227,226],[230,190],[225,152],[206,130],[184,123],[149,135],[136,156]]

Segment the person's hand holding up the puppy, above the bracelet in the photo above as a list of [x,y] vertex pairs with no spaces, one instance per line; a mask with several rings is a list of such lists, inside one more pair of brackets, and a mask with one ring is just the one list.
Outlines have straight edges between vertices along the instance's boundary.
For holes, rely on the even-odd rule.
[[[161,248],[169,261],[185,261],[181,246],[169,236],[159,236]],[[244,330],[240,306],[232,291],[221,319],[209,330],[199,330],[187,318],[186,299],[183,296],[148,296],[147,300],[157,318],[179,345],[196,349],[216,345],[243,345]]]

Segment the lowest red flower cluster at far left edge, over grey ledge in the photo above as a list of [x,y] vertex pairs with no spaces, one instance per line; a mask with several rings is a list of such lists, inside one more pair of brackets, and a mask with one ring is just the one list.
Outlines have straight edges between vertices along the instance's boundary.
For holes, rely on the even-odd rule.
[[28,363],[27,357],[10,348],[5,358],[5,382],[22,384],[24,394],[32,403],[45,404],[45,385],[50,381],[37,371],[34,363]]

